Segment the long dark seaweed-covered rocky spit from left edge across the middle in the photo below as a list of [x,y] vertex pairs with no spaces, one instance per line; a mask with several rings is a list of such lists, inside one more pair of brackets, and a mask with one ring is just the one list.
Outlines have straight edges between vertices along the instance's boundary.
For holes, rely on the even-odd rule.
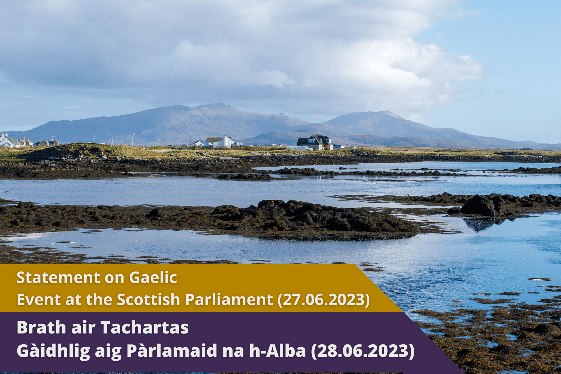
[[[6,202],[5,200],[3,201]],[[182,206],[77,206],[20,202],[0,207],[0,234],[76,228],[209,230],[257,237],[325,237],[416,234],[406,220],[366,209],[347,209],[291,200],[263,200],[239,208]]]

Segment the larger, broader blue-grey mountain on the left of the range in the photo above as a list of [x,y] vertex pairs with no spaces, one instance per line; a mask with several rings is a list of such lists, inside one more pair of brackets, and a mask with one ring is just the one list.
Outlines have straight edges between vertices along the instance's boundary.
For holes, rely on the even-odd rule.
[[[55,138],[62,143],[75,141],[111,141],[135,145],[185,144],[205,140],[207,136],[232,136],[236,140],[263,132],[282,131],[310,122],[284,114],[245,112],[221,103],[191,108],[173,105],[115,117],[95,117],[76,121],[50,121],[29,131],[7,131],[12,138],[25,136],[37,142]],[[342,130],[345,131],[345,130]]]

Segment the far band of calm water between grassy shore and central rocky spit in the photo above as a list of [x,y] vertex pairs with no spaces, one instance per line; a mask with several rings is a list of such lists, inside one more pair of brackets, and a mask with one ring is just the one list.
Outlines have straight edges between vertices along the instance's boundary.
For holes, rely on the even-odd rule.
[[[440,169],[449,164],[457,170],[476,168],[514,168],[515,163],[419,163]],[[369,164],[374,169],[378,165]],[[385,164],[388,165],[388,164]],[[413,163],[390,164],[395,168]],[[553,164],[534,164],[548,167]],[[557,165],[557,164],[555,164]],[[348,165],[367,168],[364,165]],[[333,166],[331,166],[332,168]],[[320,168],[320,167],[315,167]],[[329,165],[321,168],[330,168]],[[482,174],[481,174],[482,175]],[[130,177],[119,179],[79,179],[59,181],[0,181],[0,198],[34,201],[36,204],[85,205],[257,205],[261,200],[280,199],[311,201],[333,206],[367,206],[366,203],[342,202],[330,195],[436,195],[442,192],[475,195],[531,193],[561,195],[561,174],[505,174],[477,177],[305,177],[277,181],[247,182],[188,176]]]

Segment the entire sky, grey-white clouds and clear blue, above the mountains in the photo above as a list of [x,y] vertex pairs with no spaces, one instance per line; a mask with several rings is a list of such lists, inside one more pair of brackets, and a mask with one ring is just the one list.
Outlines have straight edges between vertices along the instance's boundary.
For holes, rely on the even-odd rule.
[[0,3],[0,126],[224,103],[560,143],[561,2]]

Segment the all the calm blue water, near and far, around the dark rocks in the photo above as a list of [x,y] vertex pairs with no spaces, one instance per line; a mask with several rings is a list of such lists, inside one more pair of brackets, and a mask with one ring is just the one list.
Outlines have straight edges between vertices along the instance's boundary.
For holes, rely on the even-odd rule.
[[[550,167],[549,164],[404,163],[371,164],[374,169],[439,170],[512,169]],[[444,166],[444,167],[443,167]],[[312,166],[329,169],[332,166]],[[339,165],[337,165],[337,168]],[[373,169],[369,165],[349,165]],[[38,204],[87,205],[256,205],[260,200],[304,200],[334,206],[376,206],[361,201],[339,201],[330,195],[434,195],[449,193],[530,193],[561,195],[561,176],[494,173],[491,177],[307,177],[282,181],[218,181],[195,177],[153,177],[69,181],[0,181],[0,197],[32,200]],[[471,293],[521,292],[518,301],[552,297],[536,285],[561,285],[561,215],[541,214],[505,220],[427,216],[461,233],[420,234],[389,240],[318,241],[257,239],[229,235],[203,236],[190,230],[102,230],[100,233],[57,232],[13,237],[15,244],[35,244],[92,256],[159,256],[176,259],[222,260],[270,264],[291,262],[347,264],[379,262],[383,273],[365,274],[404,311],[418,308],[449,310],[452,300],[464,306],[487,308],[470,301]],[[61,241],[72,244],[57,243]],[[91,247],[71,250],[69,247]],[[527,278],[548,277],[551,282]],[[539,294],[528,294],[539,292]],[[491,296],[498,298],[498,296]],[[410,315],[419,318],[417,315]]]

